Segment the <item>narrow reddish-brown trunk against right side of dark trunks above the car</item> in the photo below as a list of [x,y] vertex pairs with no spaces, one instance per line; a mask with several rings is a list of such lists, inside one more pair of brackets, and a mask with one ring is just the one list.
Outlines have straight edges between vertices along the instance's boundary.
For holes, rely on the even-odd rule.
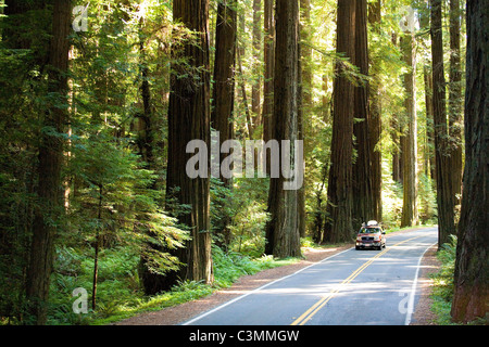
[[[380,35],[381,21],[381,3],[380,0],[368,3],[368,24],[373,27],[373,33]],[[377,147],[383,132],[381,121],[381,95],[380,95],[380,62],[378,59],[371,59],[371,76],[373,80],[369,83],[369,119],[368,119],[368,139],[372,164],[372,201],[374,204],[374,219],[381,220],[383,218],[383,201],[381,201],[381,184],[383,184],[383,167],[381,167],[381,152]]]

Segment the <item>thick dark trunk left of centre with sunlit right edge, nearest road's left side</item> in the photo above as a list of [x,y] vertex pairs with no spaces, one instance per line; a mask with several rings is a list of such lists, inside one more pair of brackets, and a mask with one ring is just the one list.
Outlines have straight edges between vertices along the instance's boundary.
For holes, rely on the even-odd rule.
[[190,206],[189,213],[174,214],[181,224],[189,228],[191,240],[184,248],[168,249],[184,266],[165,277],[148,278],[145,283],[147,294],[168,290],[177,280],[213,281],[209,171],[205,177],[195,179],[186,172],[187,162],[195,155],[186,153],[187,144],[201,140],[210,147],[209,0],[175,0],[173,17],[196,33],[196,39],[188,39],[172,52],[175,63],[168,106],[166,177],[168,202]]

